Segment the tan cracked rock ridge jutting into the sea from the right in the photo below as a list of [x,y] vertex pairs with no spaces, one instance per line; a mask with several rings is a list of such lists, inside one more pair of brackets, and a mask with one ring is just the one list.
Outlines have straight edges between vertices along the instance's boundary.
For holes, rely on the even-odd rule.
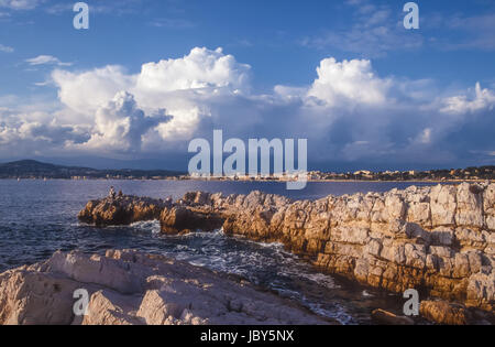
[[[165,234],[223,228],[230,236],[282,242],[321,271],[362,284],[395,293],[417,289],[422,295],[494,310],[495,183],[411,186],[318,200],[261,192],[193,192],[175,203],[150,206],[143,198],[123,200],[129,216],[119,220],[157,218]],[[116,204],[110,213],[105,207]],[[112,224],[119,206],[111,198],[90,202],[79,218]],[[143,213],[148,209],[154,213]]]

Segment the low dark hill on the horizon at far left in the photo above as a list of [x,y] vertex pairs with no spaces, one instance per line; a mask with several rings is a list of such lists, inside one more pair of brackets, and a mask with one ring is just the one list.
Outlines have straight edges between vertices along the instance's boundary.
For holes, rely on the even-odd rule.
[[97,170],[79,166],[62,166],[34,160],[0,164],[0,178],[153,178],[178,176],[184,173],[167,170]]

